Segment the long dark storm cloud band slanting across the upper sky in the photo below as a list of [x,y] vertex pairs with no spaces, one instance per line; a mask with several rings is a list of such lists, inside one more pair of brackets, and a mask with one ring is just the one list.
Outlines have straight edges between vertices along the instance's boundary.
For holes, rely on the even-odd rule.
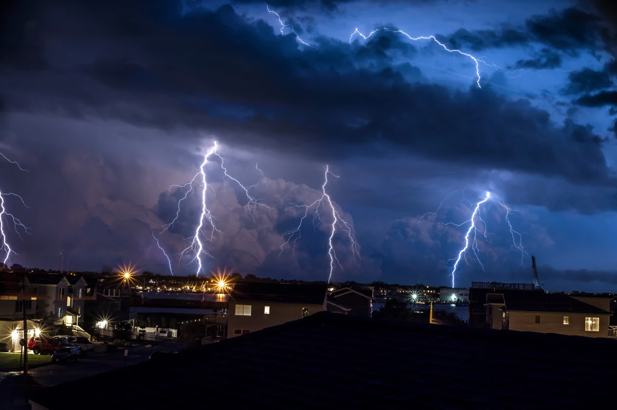
[[[49,7],[48,15],[64,18],[54,33],[67,46],[77,37],[99,46],[88,47],[94,62],[49,70],[38,81],[13,73],[5,83],[12,109],[40,109],[36,96],[45,94],[73,115],[205,128],[320,160],[366,154],[365,144],[382,141],[472,166],[577,183],[610,178],[600,137],[587,126],[554,126],[548,112],[490,87],[462,92],[408,82],[399,72],[408,65],[385,64],[397,52],[415,52],[400,38],[368,45],[322,38],[319,49],[300,50],[294,36],[247,21],[230,6],[187,15],[156,1]],[[79,35],[68,23],[85,21]],[[118,38],[119,49],[106,46]]]

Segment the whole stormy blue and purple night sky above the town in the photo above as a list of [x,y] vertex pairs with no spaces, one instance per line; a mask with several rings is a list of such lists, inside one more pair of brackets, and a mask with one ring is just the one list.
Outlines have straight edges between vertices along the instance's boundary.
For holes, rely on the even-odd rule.
[[[132,261],[194,274],[204,187],[183,186],[210,156],[206,271],[325,280],[451,284],[480,208],[478,256],[456,284],[549,290],[617,284],[617,36],[610,1],[60,0],[2,2],[0,189],[12,263],[100,271]],[[376,28],[403,30],[412,37]],[[309,44],[305,46],[297,39]],[[257,169],[259,168],[259,170]],[[464,191],[463,191],[464,190]],[[513,247],[508,219],[520,232]],[[440,207],[440,204],[441,207]],[[437,213],[435,212],[439,208]],[[178,219],[167,231],[165,224]],[[424,215],[429,213],[428,215]],[[313,221],[316,226],[313,227]],[[10,222],[10,223],[7,223]],[[317,224],[320,222],[320,224]],[[478,222],[476,220],[476,222]],[[19,228],[19,227],[18,227]],[[151,232],[152,228],[152,232]],[[210,228],[210,227],[207,227]],[[291,241],[293,242],[293,240]],[[521,266],[522,258],[522,266]],[[449,261],[450,260],[450,261]]]

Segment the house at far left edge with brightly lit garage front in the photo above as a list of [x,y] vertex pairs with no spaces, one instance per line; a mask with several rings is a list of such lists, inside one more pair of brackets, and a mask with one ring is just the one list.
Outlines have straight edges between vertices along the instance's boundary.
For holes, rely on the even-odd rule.
[[22,273],[0,272],[0,351],[19,351],[23,338],[23,314],[25,311],[27,337],[39,329],[36,305],[41,297],[33,292],[27,277]]

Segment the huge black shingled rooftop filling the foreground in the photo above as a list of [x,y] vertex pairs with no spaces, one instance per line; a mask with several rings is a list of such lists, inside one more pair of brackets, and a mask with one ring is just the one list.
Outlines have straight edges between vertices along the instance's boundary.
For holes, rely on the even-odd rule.
[[89,410],[587,408],[612,403],[615,348],[608,339],[323,312],[45,388],[33,400],[50,410],[65,410],[67,397]]

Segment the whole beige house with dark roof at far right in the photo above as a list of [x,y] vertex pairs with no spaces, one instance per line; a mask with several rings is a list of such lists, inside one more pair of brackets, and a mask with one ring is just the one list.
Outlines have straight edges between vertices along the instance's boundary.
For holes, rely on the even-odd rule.
[[559,293],[488,293],[492,329],[608,337],[610,298],[574,298]]

